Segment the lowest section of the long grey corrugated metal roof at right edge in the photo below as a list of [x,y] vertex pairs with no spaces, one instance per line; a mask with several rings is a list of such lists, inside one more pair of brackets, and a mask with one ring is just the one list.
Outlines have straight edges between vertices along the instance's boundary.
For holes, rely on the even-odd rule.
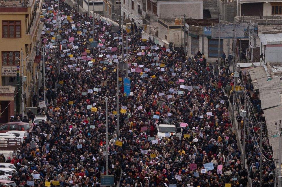
[[274,159],[278,159],[279,136],[273,136],[277,135],[275,122],[277,122],[277,128],[279,128],[279,120],[282,118],[282,105],[264,110],[264,116],[268,131],[269,144],[272,146]]

